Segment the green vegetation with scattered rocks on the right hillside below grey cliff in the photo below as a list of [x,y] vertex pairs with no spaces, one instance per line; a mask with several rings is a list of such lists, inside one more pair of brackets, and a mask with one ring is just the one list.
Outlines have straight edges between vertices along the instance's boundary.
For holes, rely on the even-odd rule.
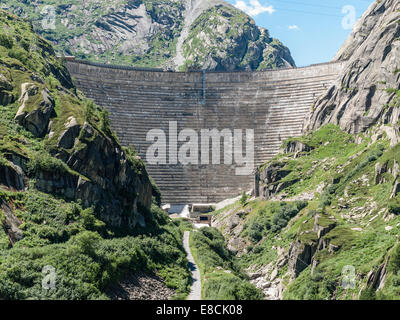
[[[238,265],[276,268],[284,299],[399,299],[400,145],[377,132],[353,136],[327,125],[286,141],[283,150],[297,142],[308,151],[281,153],[260,168],[280,163],[286,175],[273,183],[286,188],[217,214],[230,241],[229,219],[245,213],[239,238],[248,245]],[[353,267],[354,286],[346,287]]]

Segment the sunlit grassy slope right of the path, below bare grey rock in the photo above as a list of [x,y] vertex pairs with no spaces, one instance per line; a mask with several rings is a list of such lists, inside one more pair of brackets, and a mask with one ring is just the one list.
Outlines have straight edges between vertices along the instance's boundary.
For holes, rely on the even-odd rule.
[[[294,158],[293,154],[280,154],[271,160],[283,162],[283,170],[291,171],[284,181],[297,181],[283,190],[288,200],[255,200],[244,207],[238,202],[233,210],[230,208],[233,213],[243,209],[249,212],[241,237],[251,245],[247,248],[248,253],[239,258],[239,264],[245,268],[275,263],[277,247],[288,252],[294,241],[317,241],[317,234],[312,231],[316,214],[322,216],[321,225],[335,221],[336,227],[323,239],[338,250],[319,250],[314,257],[319,264],[313,274],[308,266],[290,282],[287,264],[280,268],[279,277],[287,285],[285,299],[400,298],[397,244],[400,217],[394,214],[399,212],[400,195],[389,199],[395,180],[391,173],[385,173],[385,181],[375,184],[375,165],[388,162],[391,168],[394,161],[399,163],[400,145],[391,148],[385,136],[376,142],[372,141],[371,134],[359,135],[360,143],[355,143],[355,138],[328,125],[296,139],[314,149],[299,158]],[[305,208],[292,215],[280,213],[282,206],[298,206],[299,202],[291,200],[301,199],[305,193],[314,193],[313,200],[308,201]],[[223,215],[220,217],[222,222],[225,221]],[[283,221],[279,219],[282,217]],[[283,228],[276,228],[277,224]],[[224,231],[224,227],[221,229]],[[389,267],[384,288],[377,292],[366,289],[367,274],[387,260]],[[354,289],[341,286],[342,270],[347,265],[356,270]],[[360,290],[363,291],[361,295]]]

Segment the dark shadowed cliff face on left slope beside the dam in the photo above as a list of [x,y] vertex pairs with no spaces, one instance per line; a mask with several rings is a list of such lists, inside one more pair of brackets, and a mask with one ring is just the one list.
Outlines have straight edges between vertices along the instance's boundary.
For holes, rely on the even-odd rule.
[[89,123],[83,125],[79,142],[79,148],[64,159],[71,169],[90,180],[77,181],[77,197],[86,206],[100,204],[102,218],[115,226],[144,225],[143,209],[149,209],[152,201],[145,168],[137,174],[116,141]]

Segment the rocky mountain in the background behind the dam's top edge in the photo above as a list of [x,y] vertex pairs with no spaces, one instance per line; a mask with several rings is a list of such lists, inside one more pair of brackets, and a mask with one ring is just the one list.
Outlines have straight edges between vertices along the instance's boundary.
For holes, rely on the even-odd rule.
[[1,0],[30,19],[58,54],[95,62],[187,70],[295,66],[268,30],[221,0]]

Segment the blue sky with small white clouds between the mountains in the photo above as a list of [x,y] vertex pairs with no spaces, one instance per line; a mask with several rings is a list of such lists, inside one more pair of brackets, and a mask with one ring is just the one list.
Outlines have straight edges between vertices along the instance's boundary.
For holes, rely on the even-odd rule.
[[[374,0],[228,0],[289,47],[297,66],[330,61]],[[353,19],[353,17],[355,19]]]

